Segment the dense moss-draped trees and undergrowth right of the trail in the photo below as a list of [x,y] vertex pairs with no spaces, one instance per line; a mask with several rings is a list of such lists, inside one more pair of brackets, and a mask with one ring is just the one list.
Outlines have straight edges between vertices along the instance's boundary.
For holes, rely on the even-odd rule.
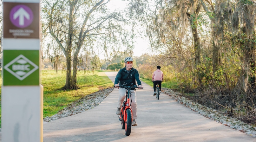
[[159,0],[149,10],[143,22],[155,55],[137,65],[141,76],[150,79],[160,65],[164,80],[197,102],[236,107],[244,116],[230,115],[256,122],[256,3]]

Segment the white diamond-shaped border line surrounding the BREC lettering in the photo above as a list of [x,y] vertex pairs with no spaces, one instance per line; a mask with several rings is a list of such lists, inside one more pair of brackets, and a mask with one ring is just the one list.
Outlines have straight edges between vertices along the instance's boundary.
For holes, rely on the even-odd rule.
[[[30,70],[27,74],[25,74],[23,77],[20,77],[19,75],[17,75],[15,72],[13,72],[12,70],[10,70],[10,68],[8,68],[10,65],[12,65],[13,63],[15,63],[16,61],[18,61],[20,58],[23,58],[25,61],[29,62],[32,66],[34,66],[35,68],[33,68],[32,70]],[[28,58],[26,58],[24,55],[19,55],[17,56],[15,59],[13,59],[11,62],[9,62],[8,64],[6,64],[3,67],[5,70],[7,70],[9,73],[11,73],[12,75],[14,75],[15,77],[17,77],[20,81],[22,81],[23,79],[25,79],[26,77],[28,77],[30,74],[32,74],[33,72],[35,72],[38,69],[38,66],[33,63],[32,61],[30,61]]]

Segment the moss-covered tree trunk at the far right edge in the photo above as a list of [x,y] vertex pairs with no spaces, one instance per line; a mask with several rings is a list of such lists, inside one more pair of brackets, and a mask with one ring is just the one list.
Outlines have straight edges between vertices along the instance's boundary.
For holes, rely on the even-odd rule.
[[[255,7],[245,5],[242,10],[243,16],[241,21],[243,22],[242,34],[237,36],[237,43],[242,50],[240,55],[241,74],[239,81],[234,89],[237,94],[247,93],[249,88],[255,87],[255,31],[254,18]],[[239,90],[240,89],[240,90]],[[248,99],[248,98],[246,98]]]

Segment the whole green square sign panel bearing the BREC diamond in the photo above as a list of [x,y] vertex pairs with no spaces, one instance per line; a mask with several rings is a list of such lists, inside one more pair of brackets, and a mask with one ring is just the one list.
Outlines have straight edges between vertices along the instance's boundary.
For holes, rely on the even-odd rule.
[[4,50],[3,85],[39,85],[38,50]]

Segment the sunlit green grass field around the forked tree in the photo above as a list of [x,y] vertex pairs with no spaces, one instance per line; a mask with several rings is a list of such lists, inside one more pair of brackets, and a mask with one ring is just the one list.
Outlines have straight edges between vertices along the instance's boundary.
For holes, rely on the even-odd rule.
[[[65,85],[66,72],[54,70],[42,70],[41,82],[43,85],[43,117],[52,116],[66,107],[69,103],[79,100],[88,94],[100,89],[112,87],[113,83],[103,71],[78,71],[77,84],[80,89],[66,90],[61,88]],[[2,78],[0,79],[2,85]],[[1,93],[1,89],[0,89]],[[0,95],[1,101],[1,95]],[[1,104],[0,104],[1,124]]]

